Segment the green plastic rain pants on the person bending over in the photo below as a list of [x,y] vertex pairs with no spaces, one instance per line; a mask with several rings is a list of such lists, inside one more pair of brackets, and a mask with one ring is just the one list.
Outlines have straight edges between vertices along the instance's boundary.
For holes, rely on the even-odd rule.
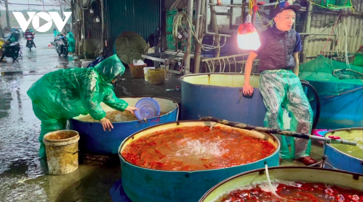
[[52,115],[49,115],[44,110],[41,110],[36,104],[33,103],[33,111],[36,117],[41,121],[41,131],[39,135],[39,156],[46,157],[45,144],[43,143],[43,137],[48,132],[57,130],[65,130],[67,126],[67,119],[55,119]]

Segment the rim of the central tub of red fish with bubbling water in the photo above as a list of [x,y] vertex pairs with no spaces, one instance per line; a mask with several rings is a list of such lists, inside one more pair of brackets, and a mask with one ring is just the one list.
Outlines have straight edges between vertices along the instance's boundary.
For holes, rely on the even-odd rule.
[[[173,122],[168,122],[168,123],[160,123],[160,124],[157,124],[157,125],[154,125],[154,126],[149,126],[145,129],[142,129],[142,130],[139,130],[137,132],[135,132],[134,134],[128,136],[127,138],[125,138],[122,142],[121,142],[121,145],[120,147],[118,148],[118,152],[117,152],[117,155],[119,156],[119,158],[122,158],[125,162],[129,163],[130,165],[133,165],[135,167],[138,167],[138,168],[143,168],[143,169],[148,169],[148,170],[152,170],[152,171],[162,171],[162,172],[187,172],[187,173],[192,173],[192,172],[203,172],[203,171],[216,171],[216,170],[219,170],[219,169],[227,169],[227,168],[233,168],[233,167],[238,167],[238,166],[242,166],[242,165],[248,165],[248,164],[251,164],[251,163],[256,163],[257,161],[262,161],[262,160],[266,160],[268,157],[272,156],[272,155],[275,155],[276,153],[278,153],[278,155],[280,155],[280,141],[278,140],[278,138],[273,135],[273,134],[270,134],[270,133],[266,133],[264,132],[265,134],[267,135],[270,135],[276,142],[277,142],[277,147],[275,149],[275,151],[273,153],[271,153],[269,156],[266,156],[265,158],[263,159],[260,159],[260,160],[257,160],[257,161],[253,161],[251,163],[247,163],[247,164],[241,164],[241,165],[234,165],[234,166],[231,166],[231,167],[226,167],[226,168],[216,168],[216,169],[208,169],[208,170],[197,170],[197,171],[164,171],[164,170],[157,170],[157,169],[151,169],[151,168],[145,168],[145,167],[142,167],[142,166],[139,166],[139,165],[135,165],[133,163],[131,163],[130,161],[126,160],[125,157],[123,157],[121,155],[121,150],[123,148],[123,146],[125,145],[125,143],[127,142],[127,140],[129,140],[130,138],[133,139],[133,137],[138,134],[139,132],[143,132],[143,131],[146,131],[148,129],[151,129],[153,127],[157,127],[157,126],[162,126],[162,125],[167,125],[167,124],[174,124],[176,123],[176,125],[180,125],[180,123],[183,123],[183,122],[209,122],[209,123],[215,123],[215,122],[212,122],[212,121],[203,121],[203,120],[184,120],[184,121],[173,121]],[[258,132],[258,131],[257,131]]]

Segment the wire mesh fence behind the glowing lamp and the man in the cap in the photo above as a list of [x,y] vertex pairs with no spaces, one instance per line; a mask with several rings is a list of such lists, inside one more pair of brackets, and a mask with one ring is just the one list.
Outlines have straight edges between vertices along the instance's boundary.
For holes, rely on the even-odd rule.
[[[223,0],[223,4],[241,5],[241,2],[237,0]],[[261,7],[258,14],[253,16],[252,21],[259,33],[266,30],[269,26],[273,25],[270,18],[270,7]],[[238,55],[247,53],[249,51],[243,51],[238,48],[237,45],[237,31],[238,26],[245,21],[243,17],[248,14],[247,8],[242,7],[225,7],[225,6],[208,6],[208,31],[229,34],[229,38],[220,39],[220,49],[212,49],[209,51],[201,51],[201,56],[204,58],[216,58],[225,57],[231,55]],[[215,13],[215,15],[213,15]],[[306,12],[299,11],[296,14],[295,30],[297,32],[304,32],[305,29]],[[216,30],[217,29],[217,30]],[[212,35],[204,35],[203,44],[214,45],[218,44],[217,38],[213,38]],[[244,72],[244,64],[247,59],[247,55],[244,57],[230,57],[228,59],[215,59],[209,62],[200,63],[200,73],[207,72]],[[258,60],[253,65],[253,73],[258,73]]]

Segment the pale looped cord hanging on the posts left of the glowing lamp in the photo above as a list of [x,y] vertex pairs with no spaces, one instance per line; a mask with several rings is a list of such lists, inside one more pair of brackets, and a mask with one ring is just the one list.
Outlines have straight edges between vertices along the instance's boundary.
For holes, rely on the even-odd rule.
[[214,46],[214,42],[213,42],[212,46],[202,44],[201,41],[199,41],[197,34],[195,33],[195,29],[194,29],[192,20],[190,19],[189,15],[187,13],[185,13],[184,11],[177,13],[176,16],[174,17],[172,33],[173,33],[173,36],[174,36],[175,39],[180,39],[179,38],[180,34],[178,34],[178,32],[179,32],[179,30],[183,29],[183,21],[184,20],[187,21],[188,29],[191,30],[191,33],[193,34],[194,39],[199,43],[199,45],[201,46],[201,48],[204,51],[209,51],[209,50],[212,50],[212,49],[223,47],[226,44],[227,37],[224,37],[223,46],[220,46],[220,39],[218,39],[217,46]]

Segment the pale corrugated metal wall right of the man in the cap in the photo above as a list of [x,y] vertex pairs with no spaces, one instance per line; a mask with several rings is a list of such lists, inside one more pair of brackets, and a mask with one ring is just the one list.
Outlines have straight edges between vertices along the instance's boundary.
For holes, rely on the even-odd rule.
[[[363,44],[363,1],[352,1],[355,5],[355,14],[349,14],[343,11],[341,20],[335,29],[336,35],[331,36],[326,47],[325,52],[342,51],[345,53],[346,34],[344,24],[347,27],[347,44],[348,52],[354,53],[358,50],[359,46]],[[329,34],[337,21],[338,14],[332,12],[319,12],[319,9],[314,9],[311,15],[311,28],[310,33],[324,33]],[[324,49],[327,38],[329,35],[315,35],[310,36],[307,60],[313,59],[315,56],[320,55],[320,51]],[[339,40],[338,40],[339,39]],[[337,43],[338,41],[338,43]]]

